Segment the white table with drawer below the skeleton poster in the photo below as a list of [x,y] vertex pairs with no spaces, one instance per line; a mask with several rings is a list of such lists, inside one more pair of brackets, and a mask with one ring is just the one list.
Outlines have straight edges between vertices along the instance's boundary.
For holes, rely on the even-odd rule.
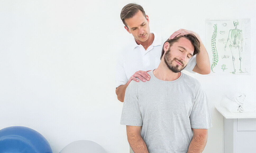
[[256,152],[256,112],[231,113],[215,107],[224,117],[224,153]]

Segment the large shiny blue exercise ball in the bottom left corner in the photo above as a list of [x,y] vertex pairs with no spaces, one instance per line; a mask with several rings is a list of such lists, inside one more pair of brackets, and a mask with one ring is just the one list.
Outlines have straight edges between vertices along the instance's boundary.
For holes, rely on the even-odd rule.
[[0,153],[52,153],[48,141],[37,131],[24,126],[0,130]]

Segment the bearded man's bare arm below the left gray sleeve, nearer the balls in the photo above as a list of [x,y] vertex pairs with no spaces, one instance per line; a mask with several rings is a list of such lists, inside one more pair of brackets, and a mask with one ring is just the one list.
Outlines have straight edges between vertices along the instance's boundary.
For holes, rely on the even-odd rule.
[[148,153],[145,141],[140,135],[142,126],[126,125],[127,139],[134,153]]

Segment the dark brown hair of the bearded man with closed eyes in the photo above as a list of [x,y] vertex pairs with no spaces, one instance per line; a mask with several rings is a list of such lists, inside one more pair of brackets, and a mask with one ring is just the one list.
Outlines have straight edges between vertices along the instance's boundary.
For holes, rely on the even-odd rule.
[[[194,46],[194,53],[193,53],[193,56],[195,54],[199,54],[199,50],[200,50],[200,42],[199,40],[196,38],[196,36],[194,34],[186,34],[186,35],[182,35],[182,36],[177,36],[177,37],[174,37],[173,39],[167,39],[164,44],[166,42],[169,42],[170,44],[170,47],[173,45],[174,42],[177,42],[181,37],[184,37],[188,40],[190,40],[190,42],[192,43],[192,45]],[[161,58],[163,57],[163,54],[164,54],[164,49],[162,49],[162,55],[161,55]]]

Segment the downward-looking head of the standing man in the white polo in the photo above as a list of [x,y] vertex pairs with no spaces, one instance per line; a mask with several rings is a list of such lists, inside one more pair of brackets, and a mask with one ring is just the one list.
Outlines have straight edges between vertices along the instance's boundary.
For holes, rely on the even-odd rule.
[[149,18],[144,9],[135,3],[127,4],[123,7],[120,17],[125,29],[134,36],[135,39],[145,42],[149,38]]

